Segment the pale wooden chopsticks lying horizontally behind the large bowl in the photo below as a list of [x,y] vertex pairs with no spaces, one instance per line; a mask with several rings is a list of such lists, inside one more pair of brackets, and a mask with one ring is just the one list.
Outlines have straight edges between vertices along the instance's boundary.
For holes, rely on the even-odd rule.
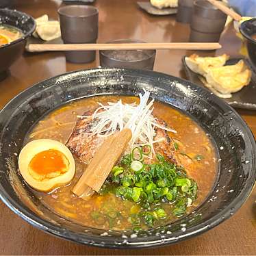
[[27,44],[26,50],[40,51],[97,51],[97,50],[216,50],[218,42],[151,42],[131,44]]

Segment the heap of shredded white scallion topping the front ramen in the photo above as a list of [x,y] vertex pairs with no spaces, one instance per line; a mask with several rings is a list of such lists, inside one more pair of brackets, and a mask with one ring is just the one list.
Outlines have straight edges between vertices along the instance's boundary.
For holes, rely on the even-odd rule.
[[92,120],[97,120],[96,125],[91,128],[92,134],[107,137],[116,131],[129,128],[132,133],[129,149],[133,149],[134,146],[150,145],[151,155],[155,155],[153,144],[164,140],[164,138],[154,140],[155,127],[172,133],[177,131],[157,123],[157,118],[152,114],[154,99],[149,101],[149,96],[150,92],[146,90],[143,95],[139,94],[139,105],[123,104],[121,100],[116,103],[109,102],[107,105],[98,103],[99,107],[92,114]]

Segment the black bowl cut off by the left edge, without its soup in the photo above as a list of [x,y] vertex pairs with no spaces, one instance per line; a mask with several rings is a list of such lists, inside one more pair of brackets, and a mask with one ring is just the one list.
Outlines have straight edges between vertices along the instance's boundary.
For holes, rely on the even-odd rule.
[[0,46],[0,81],[6,77],[8,68],[23,54],[28,36],[36,29],[36,21],[23,12],[0,9],[1,25],[16,27],[23,33],[23,36]]

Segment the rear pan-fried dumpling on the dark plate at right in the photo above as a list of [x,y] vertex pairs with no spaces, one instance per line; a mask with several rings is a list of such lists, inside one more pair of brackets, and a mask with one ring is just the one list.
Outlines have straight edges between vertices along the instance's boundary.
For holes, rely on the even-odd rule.
[[206,75],[210,68],[224,66],[227,60],[229,60],[227,54],[218,57],[200,57],[192,54],[190,57],[185,57],[185,64],[195,73]]

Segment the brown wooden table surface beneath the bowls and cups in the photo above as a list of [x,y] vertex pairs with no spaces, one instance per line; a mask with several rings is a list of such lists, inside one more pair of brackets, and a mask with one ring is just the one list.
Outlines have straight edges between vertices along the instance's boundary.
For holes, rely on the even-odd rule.
[[[57,19],[58,0],[19,0],[15,8],[38,17],[49,14]],[[187,42],[188,25],[175,22],[175,16],[149,16],[133,0],[97,0],[99,40],[131,38],[148,42]],[[218,53],[238,55],[240,40],[233,29],[222,36]],[[155,71],[184,77],[181,57],[186,51],[157,51]],[[1,60],[0,60],[1,61]],[[0,107],[29,86],[49,77],[99,66],[66,63],[64,53],[26,53],[10,69],[11,75],[0,82]],[[255,96],[256,97],[256,96]],[[256,136],[256,112],[238,110]],[[81,246],[55,238],[35,229],[0,202],[1,255],[253,255],[256,254],[256,190],[231,219],[215,229],[172,246],[149,250],[109,250]]]

